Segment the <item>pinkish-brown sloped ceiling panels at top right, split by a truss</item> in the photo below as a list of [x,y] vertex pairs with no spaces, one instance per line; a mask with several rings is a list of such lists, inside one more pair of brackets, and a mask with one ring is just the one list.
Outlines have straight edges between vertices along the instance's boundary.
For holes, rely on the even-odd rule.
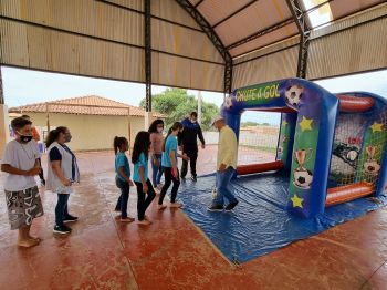
[[[299,33],[286,0],[189,1],[211,24],[233,58]],[[320,0],[313,1],[314,7],[304,12],[315,13],[330,6],[331,19],[335,21],[383,2],[386,0]]]

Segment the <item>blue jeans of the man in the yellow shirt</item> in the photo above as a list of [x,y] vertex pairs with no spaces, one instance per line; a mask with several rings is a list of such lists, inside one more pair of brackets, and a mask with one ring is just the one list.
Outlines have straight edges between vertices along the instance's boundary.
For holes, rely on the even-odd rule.
[[223,173],[217,172],[217,198],[213,200],[215,206],[223,206],[224,197],[229,203],[237,201],[230,183],[234,172],[232,167],[228,167]]

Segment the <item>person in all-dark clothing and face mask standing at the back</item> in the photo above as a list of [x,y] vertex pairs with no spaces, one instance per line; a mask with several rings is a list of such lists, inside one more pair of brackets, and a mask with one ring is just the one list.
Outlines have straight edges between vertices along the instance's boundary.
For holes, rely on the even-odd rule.
[[[182,154],[189,157],[191,167],[191,179],[197,180],[196,162],[198,159],[198,137],[201,142],[201,148],[206,148],[206,142],[201,127],[197,122],[198,113],[192,112],[189,117],[181,121],[184,126],[181,134],[178,135],[179,146],[182,147]],[[181,165],[181,179],[185,180],[188,172],[188,162],[182,160]]]

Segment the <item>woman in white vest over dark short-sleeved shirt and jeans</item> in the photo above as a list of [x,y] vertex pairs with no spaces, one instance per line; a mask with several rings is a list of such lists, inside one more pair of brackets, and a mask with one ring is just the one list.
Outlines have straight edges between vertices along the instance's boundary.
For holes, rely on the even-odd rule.
[[50,131],[45,145],[48,147],[49,166],[46,188],[57,194],[55,207],[55,234],[70,234],[71,228],[65,224],[77,221],[77,217],[69,214],[69,197],[73,191],[72,184],[80,182],[80,170],[76,157],[65,145],[72,136],[66,127]]

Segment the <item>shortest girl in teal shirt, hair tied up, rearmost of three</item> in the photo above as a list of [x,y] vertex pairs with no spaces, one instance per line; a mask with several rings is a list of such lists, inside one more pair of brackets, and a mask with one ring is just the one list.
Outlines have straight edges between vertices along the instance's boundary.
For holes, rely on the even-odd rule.
[[115,172],[116,172],[116,186],[121,189],[121,196],[117,200],[116,209],[121,210],[121,221],[132,222],[135,219],[127,216],[127,201],[129,200],[130,186],[134,186],[130,180],[130,167],[129,162],[125,155],[125,152],[129,149],[129,142],[125,137],[114,138],[114,152],[115,152]]

